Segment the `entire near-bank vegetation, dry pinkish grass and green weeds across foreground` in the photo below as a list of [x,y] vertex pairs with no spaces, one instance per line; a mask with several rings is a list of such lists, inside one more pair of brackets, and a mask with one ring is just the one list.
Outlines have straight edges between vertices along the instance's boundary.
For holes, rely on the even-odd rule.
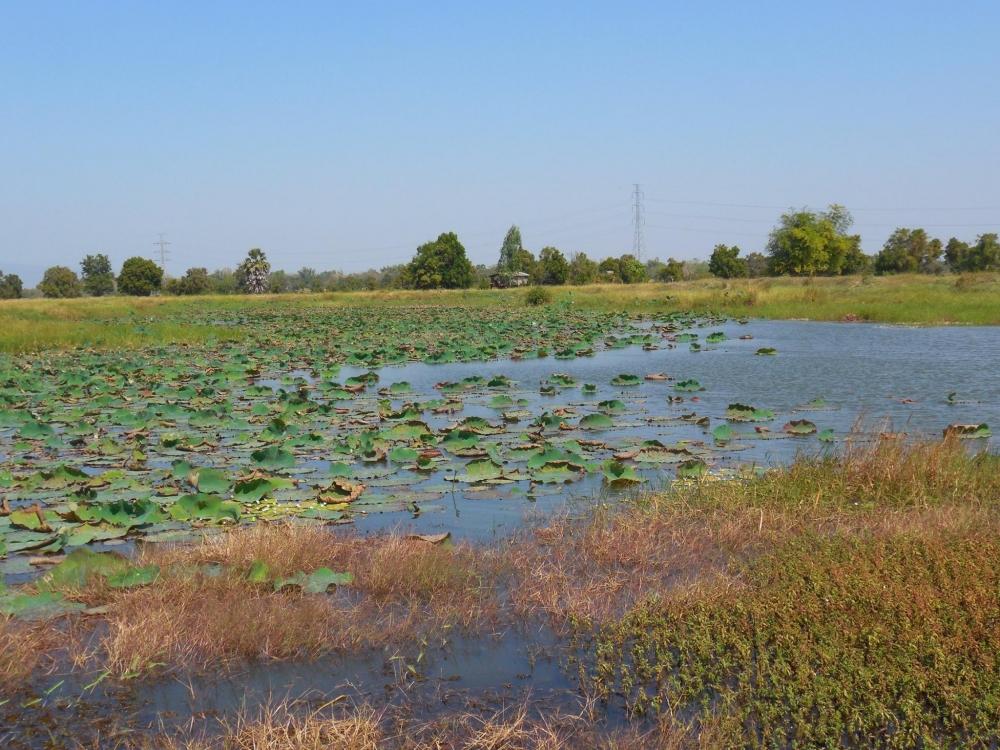
[[[66,588],[89,614],[0,618],[0,700],[13,701],[0,716],[33,721],[16,706],[30,705],[37,675],[51,682],[66,665],[135,684],[387,645],[433,658],[461,633],[542,628],[578,681],[575,713],[539,715],[526,702],[427,721],[394,716],[391,701],[326,696],[322,709],[267,705],[202,737],[144,738],[131,727],[125,744],[990,747],[1000,726],[998,532],[1000,457],[956,439],[893,438],[763,474],[678,482],[491,546],[237,528],[140,548],[138,562],[160,570],[147,586],[88,577]],[[254,575],[320,565],[353,575],[343,595],[274,590]],[[413,687],[419,659],[408,663]],[[624,711],[624,728],[607,725],[606,706]]]

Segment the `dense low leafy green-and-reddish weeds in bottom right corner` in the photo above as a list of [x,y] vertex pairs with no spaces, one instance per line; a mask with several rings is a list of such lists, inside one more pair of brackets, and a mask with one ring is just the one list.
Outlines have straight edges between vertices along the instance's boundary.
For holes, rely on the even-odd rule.
[[988,746],[1000,719],[994,534],[802,535],[714,597],[650,598],[590,647],[633,712],[738,746]]

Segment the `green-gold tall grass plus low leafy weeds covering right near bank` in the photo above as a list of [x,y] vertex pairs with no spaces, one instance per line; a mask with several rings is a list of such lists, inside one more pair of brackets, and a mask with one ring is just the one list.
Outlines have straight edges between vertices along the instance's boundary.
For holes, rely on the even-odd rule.
[[995,746],[998,510],[1000,457],[957,441],[678,487],[627,525],[695,514],[723,574],[578,619],[583,679],[727,747]]

